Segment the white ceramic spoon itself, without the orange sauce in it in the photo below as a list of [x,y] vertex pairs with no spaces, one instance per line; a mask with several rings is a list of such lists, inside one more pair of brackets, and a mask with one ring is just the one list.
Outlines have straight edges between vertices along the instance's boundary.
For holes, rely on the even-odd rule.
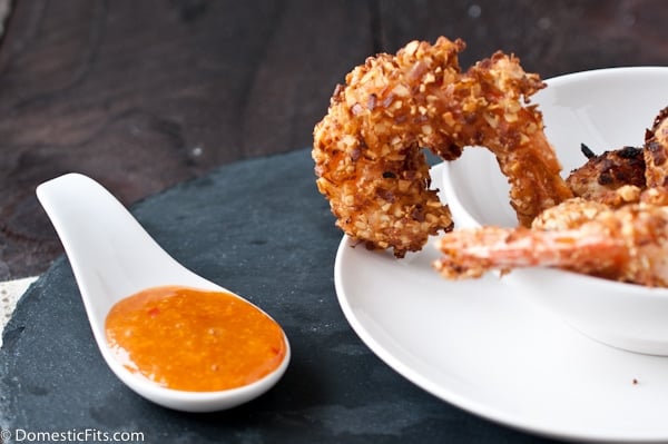
[[283,376],[291,356],[287,337],[281,365],[264,378],[239,388],[177,391],[127,371],[115,358],[105,336],[105,319],[119,299],[164,285],[234,293],[177,263],[109,191],[89,177],[80,174],[58,177],[41,184],[37,196],[62,241],[105,361],[137,394],[174,410],[212,412],[250,401]]

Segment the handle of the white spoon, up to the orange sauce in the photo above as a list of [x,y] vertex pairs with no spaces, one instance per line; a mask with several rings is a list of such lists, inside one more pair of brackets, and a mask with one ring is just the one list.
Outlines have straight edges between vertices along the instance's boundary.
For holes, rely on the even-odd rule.
[[[107,189],[80,174],[38,186],[65,247],[89,316],[104,322],[118,299],[175,284],[219,288],[173,259]],[[91,298],[105,298],[91,304]]]

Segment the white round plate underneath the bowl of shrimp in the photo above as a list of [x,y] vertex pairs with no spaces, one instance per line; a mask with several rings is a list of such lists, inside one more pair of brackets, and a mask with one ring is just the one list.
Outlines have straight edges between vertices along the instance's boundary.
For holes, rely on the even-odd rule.
[[433,245],[404,259],[345,237],[340,245],[340,304],[387,365],[453,405],[530,433],[668,442],[668,358],[584,337],[497,276],[445,280],[431,268],[436,257]]

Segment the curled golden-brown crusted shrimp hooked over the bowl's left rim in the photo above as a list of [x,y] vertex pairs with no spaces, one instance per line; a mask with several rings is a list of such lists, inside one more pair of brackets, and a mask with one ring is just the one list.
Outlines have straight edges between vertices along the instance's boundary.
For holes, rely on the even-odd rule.
[[561,166],[529,97],[544,83],[519,60],[494,53],[461,72],[461,40],[412,41],[395,56],[370,57],[346,76],[314,129],[318,190],[336,225],[370,248],[396,257],[451,230],[450,210],[430,189],[421,148],[445,160],[465,146],[494,152],[511,184],[510,200],[528,226],[571,197]]

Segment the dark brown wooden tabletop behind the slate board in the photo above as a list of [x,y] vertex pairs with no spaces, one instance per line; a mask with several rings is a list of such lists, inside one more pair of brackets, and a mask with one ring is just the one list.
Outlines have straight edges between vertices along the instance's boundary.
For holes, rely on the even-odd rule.
[[345,73],[412,39],[461,37],[464,68],[501,49],[549,78],[668,65],[666,23],[662,0],[14,1],[0,45],[0,279],[61,254],[35,198],[60,174],[131,205],[311,146]]

